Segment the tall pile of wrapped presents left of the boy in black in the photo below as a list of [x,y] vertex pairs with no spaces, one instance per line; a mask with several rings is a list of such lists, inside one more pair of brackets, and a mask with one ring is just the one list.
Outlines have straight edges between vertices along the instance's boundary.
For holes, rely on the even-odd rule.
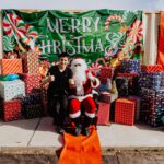
[[[21,58],[5,56],[0,60],[0,68],[1,77],[7,77],[0,81],[0,116],[4,121],[43,116],[45,98],[40,87],[38,55],[23,52]],[[11,74],[19,74],[19,78],[8,79]]]

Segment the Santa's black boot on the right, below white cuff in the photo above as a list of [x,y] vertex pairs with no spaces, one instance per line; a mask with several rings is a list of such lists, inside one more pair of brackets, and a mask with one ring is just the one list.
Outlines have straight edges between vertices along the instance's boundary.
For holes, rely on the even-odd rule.
[[92,124],[93,118],[90,118],[87,116],[85,116],[84,118],[84,124],[83,124],[83,128],[82,128],[82,134],[83,136],[90,136],[90,125]]

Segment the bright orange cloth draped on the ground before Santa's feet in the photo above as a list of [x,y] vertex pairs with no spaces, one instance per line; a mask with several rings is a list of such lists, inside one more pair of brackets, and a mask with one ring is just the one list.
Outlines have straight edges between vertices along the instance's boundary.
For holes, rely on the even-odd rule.
[[63,134],[65,147],[59,164],[102,164],[101,145],[96,130],[90,137]]

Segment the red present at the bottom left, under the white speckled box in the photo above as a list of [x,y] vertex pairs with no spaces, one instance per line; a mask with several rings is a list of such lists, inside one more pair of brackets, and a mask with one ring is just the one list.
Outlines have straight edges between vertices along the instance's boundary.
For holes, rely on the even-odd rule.
[[4,121],[17,120],[21,118],[21,99],[0,99],[0,108],[3,109]]

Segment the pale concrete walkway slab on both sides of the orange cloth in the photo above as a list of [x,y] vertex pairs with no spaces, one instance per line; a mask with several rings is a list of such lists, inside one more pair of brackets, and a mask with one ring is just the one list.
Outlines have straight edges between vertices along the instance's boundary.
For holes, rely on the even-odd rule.
[[[62,147],[61,136],[57,134],[50,117],[23,119],[10,122],[0,120],[1,147]],[[152,128],[145,125],[125,126],[112,124],[98,126],[102,149],[107,148],[162,148],[164,127]]]

